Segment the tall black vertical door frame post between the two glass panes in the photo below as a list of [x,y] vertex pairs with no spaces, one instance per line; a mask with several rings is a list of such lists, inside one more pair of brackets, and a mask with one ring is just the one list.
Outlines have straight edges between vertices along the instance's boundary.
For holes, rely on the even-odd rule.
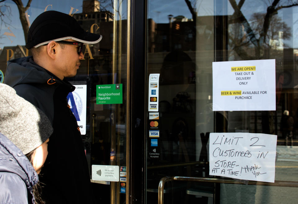
[[128,3],[129,107],[127,108],[126,203],[146,203],[146,50],[147,0]]

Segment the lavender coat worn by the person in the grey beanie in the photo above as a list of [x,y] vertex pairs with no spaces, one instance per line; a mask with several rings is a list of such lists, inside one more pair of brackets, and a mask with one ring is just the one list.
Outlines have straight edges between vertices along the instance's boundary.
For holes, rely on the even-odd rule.
[[0,133],[0,203],[34,204],[38,175],[23,152]]

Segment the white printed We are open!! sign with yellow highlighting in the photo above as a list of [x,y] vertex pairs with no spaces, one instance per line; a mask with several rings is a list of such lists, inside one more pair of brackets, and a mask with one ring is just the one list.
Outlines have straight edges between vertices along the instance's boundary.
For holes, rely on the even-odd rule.
[[212,62],[213,111],[275,111],[275,59]]

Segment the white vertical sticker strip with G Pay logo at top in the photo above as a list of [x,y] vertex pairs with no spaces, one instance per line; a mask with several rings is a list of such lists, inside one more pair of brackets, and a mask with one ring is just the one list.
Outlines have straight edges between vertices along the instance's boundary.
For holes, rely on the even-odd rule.
[[149,75],[148,111],[158,112],[159,75],[160,74]]

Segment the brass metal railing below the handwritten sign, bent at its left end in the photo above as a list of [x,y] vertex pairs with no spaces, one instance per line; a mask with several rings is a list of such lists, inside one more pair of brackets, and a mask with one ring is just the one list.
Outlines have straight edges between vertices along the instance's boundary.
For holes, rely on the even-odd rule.
[[[168,181],[194,181],[194,182],[208,182],[220,184],[244,184],[234,179],[223,178],[204,178],[204,177],[183,177],[183,176],[165,176],[160,179],[158,185],[158,204],[164,203],[164,188],[165,183]],[[261,185],[261,186],[279,186],[279,187],[298,187],[297,181],[275,181],[274,183],[248,181],[247,185]]]

